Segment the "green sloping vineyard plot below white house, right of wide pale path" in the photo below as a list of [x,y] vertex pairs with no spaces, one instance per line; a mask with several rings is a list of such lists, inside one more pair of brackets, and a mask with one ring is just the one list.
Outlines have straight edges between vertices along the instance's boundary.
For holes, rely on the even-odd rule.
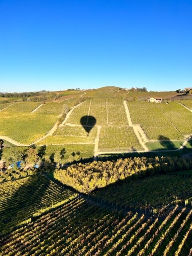
[[[149,102],[127,102],[133,124],[140,124],[150,140],[181,140],[182,134],[174,128],[170,120],[162,113],[159,104]],[[176,111],[172,106],[172,113]],[[175,116],[176,117],[176,116]],[[178,120],[181,121],[181,120]]]

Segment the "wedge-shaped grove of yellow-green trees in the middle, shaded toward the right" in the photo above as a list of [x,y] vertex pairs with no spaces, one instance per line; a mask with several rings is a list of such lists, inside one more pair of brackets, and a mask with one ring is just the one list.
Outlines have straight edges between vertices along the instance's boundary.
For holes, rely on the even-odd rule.
[[191,158],[186,160],[178,157],[135,157],[117,161],[73,164],[65,170],[55,170],[54,177],[80,192],[88,193],[96,188],[105,187],[128,177],[134,179],[156,173],[163,174],[177,170],[189,170],[190,168],[192,168]]

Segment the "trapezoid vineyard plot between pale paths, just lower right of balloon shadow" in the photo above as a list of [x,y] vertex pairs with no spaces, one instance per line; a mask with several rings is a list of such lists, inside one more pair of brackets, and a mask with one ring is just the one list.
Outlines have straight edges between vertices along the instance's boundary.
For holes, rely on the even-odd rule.
[[99,151],[143,150],[132,127],[102,126],[98,144]]

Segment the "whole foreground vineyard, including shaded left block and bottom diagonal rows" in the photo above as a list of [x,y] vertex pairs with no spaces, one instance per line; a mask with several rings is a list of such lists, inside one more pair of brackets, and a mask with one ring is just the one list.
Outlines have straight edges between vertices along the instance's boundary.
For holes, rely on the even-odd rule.
[[163,217],[150,218],[100,206],[45,177],[0,186],[2,256],[187,256],[191,250],[188,207],[176,205]]

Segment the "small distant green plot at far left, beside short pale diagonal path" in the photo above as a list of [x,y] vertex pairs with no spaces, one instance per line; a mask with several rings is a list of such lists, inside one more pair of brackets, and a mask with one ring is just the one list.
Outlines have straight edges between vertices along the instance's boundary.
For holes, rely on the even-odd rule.
[[41,104],[40,102],[15,102],[12,106],[10,106],[8,109],[6,109],[6,112],[9,112],[9,113],[20,113],[20,112],[30,113],[35,108],[40,106],[40,104]]

